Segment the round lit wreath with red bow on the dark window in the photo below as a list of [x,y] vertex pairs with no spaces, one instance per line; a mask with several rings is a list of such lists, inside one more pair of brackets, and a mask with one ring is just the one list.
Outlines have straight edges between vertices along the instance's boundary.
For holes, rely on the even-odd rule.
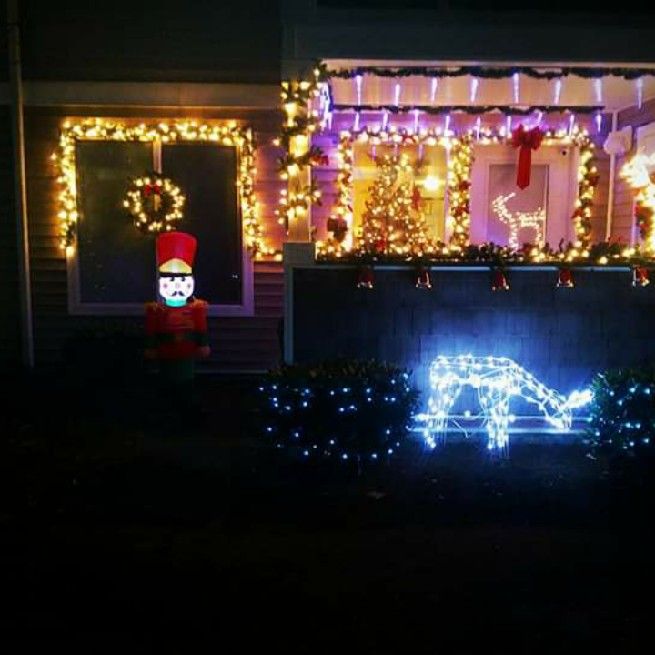
[[147,234],[175,229],[183,217],[186,198],[167,177],[151,173],[131,178],[123,206],[137,229]]

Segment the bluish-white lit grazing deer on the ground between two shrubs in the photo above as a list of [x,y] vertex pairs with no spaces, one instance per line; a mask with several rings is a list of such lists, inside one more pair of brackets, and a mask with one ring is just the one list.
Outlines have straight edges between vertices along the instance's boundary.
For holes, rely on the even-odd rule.
[[564,398],[507,357],[437,357],[430,366],[430,386],[432,396],[424,418],[426,440],[432,447],[436,445],[433,435],[445,434],[450,411],[465,386],[477,390],[489,450],[506,451],[509,445],[509,403],[513,396],[537,405],[544,419],[558,430],[570,429],[571,410],[591,400],[588,389]]

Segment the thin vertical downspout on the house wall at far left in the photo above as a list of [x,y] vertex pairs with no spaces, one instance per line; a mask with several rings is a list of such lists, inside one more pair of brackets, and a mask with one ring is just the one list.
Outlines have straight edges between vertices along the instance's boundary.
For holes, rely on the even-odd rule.
[[18,0],[7,0],[7,44],[14,144],[14,207],[18,249],[18,280],[20,285],[21,353],[23,365],[28,369],[32,369],[34,368],[34,329],[32,324],[30,246],[25,183],[25,124],[23,117]]

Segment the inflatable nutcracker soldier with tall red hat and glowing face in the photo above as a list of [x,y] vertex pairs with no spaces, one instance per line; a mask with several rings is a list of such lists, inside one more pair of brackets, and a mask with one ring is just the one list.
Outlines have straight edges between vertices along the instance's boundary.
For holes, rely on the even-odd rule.
[[207,303],[193,297],[196,245],[184,232],[157,237],[160,301],[146,306],[146,357],[159,360],[162,382],[174,388],[191,383],[195,360],[209,355]]

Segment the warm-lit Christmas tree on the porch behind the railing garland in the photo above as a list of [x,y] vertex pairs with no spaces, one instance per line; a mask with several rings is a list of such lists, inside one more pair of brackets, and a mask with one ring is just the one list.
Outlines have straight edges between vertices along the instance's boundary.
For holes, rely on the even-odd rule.
[[368,189],[357,248],[369,255],[413,255],[432,252],[421,196],[413,183],[415,170],[407,155],[373,157],[378,173]]

